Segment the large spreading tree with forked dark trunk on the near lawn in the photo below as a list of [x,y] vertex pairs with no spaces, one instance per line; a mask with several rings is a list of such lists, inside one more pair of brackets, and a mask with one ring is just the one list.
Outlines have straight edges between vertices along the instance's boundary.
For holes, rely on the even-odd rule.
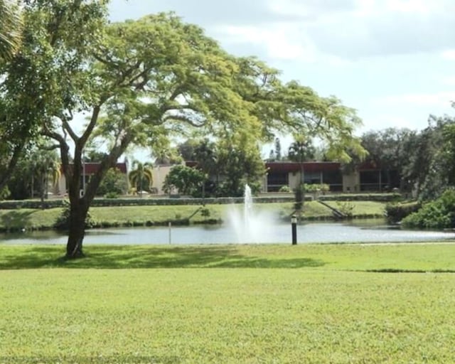
[[[83,255],[90,203],[131,144],[159,154],[173,137],[198,129],[225,151],[254,156],[258,143],[279,130],[319,135],[343,160],[350,158],[346,150],[363,151],[353,137],[360,120],[336,98],[283,84],[277,70],[225,53],[174,14],[108,24],[104,3],[30,1],[28,51],[15,70],[33,86],[26,90],[36,90],[21,95],[38,108],[41,132],[60,149],[70,198],[68,258]],[[75,119],[80,112],[84,127]],[[109,140],[108,150],[81,197],[82,154],[95,139]]]

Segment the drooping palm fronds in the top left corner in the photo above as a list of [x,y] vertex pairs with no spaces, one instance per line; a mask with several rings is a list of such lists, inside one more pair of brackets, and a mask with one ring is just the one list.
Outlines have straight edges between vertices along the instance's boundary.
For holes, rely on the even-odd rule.
[[21,45],[22,16],[12,0],[0,0],[0,59],[9,59]]

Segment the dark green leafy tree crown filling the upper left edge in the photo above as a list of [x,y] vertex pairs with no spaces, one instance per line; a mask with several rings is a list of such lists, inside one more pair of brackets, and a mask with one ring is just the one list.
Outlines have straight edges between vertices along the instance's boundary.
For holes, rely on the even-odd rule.
[[104,3],[22,1],[21,47],[0,60],[0,188],[30,141],[53,130],[55,117],[68,121],[86,109],[94,83],[87,52],[100,38]]

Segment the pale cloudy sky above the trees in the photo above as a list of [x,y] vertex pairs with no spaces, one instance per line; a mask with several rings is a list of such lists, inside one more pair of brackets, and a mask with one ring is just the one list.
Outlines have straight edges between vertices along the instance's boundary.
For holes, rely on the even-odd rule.
[[175,11],[234,55],[256,55],[364,127],[423,129],[454,114],[454,0],[112,0],[112,21]]

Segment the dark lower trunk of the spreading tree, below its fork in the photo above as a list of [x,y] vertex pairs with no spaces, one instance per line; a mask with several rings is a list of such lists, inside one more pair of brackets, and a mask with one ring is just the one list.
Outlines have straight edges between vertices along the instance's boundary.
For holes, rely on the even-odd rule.
[[82,252],[82,241],[85,235],[85,219],[87,218],[88,207],[82,201],[70,208],[68,242],[66,245],[66,257],[76,259],[84,257]]

